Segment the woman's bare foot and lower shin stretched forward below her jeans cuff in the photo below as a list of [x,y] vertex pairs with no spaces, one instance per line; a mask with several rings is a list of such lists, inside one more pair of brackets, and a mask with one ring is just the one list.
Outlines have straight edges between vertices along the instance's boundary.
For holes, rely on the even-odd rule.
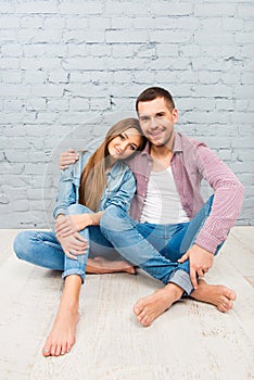
[[64,292],[52,330],[42,349],[43,356],[60,356],[68,353],[76,341],[79,319],[78,297],[81,280],[79,276],[65,279]]

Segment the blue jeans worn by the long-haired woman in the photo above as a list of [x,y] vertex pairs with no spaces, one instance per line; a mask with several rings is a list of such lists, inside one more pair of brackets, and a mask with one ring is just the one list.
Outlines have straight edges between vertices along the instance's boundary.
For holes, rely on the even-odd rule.
[[[68,207],[68,214],[92,213],[89,208],[73,204]],[[106,259],[123,259],[112,248],[112,244],[103,237],[99,226],[91,226],[79,231],[87,239],[89,248],[84,255],[77,255],[77,259],[68,258],[53,231],[22,231],[14,240],[14,252],[17,257],[28,263],[63,271],[62,277],[79,275],[85,281],[87,258],[96,255]]]

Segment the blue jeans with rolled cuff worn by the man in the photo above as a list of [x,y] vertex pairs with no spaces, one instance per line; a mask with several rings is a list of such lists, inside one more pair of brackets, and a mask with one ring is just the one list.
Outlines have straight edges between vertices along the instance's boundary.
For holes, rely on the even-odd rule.
[[110,206],[101,218],[101,231],[126,259],[165,284],[178,284],[189,295],[193,291],[189,261],[177,261],[194,244],[212,203],[213,195],[192,220],[175,225],[139,224],[119,207]]

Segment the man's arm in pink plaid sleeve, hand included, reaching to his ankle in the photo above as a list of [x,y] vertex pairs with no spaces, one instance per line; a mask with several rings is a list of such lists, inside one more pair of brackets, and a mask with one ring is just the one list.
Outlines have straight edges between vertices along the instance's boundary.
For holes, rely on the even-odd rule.
[[243,187],[231,169],[205,144],[196,147],[196,165],[202,177],[214,190],[211,214],[201,228],[195,244],[179,259],[190,261],[190,277],[194,288],[196,276],[203,277],[213,265],[213,254],[233,226],[243,200]]

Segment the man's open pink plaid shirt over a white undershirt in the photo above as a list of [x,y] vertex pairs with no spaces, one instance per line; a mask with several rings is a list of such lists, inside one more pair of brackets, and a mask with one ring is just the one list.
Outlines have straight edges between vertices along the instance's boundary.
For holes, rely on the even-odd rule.
[[[148,190],[153,160],[150,144],[128,162],[137,179],[137,192],[130,215],[139,220]],[[205,179],[214,190],[209,216],[195,239],[195,243],[209,252],[226,240],[243,201],[243,186],[236,175],[203,142],[175,132],[172,170],[183,210],[193,218],[204,204],[201,197],[201,180]]]

